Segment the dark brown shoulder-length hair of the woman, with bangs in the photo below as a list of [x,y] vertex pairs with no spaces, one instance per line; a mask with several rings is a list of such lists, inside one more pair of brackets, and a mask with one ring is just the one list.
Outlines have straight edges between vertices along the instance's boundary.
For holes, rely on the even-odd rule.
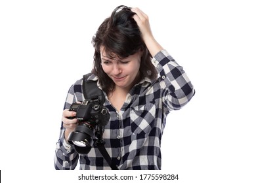
[[100,86],[104,92],[112,92],[115,88],[113,80],[104,73],[101,66],[100,46],[104,46],[104,51],[108,56],[118,56],[118,58],[127,58],[130,55],[142,52],[140,61],[140,78],[148,77],[156,79],[157,71],[151,62],[152,56],[142,40],[139,27],[133,15],[135,12],[126,6],[117,7],[109,18],[98,27],[93,37],[94,68],[92,73],[98,76]]

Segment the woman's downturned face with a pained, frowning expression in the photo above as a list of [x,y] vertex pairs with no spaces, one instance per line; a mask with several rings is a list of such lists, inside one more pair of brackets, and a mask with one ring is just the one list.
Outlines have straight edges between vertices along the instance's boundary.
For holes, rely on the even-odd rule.
[[103,71],[114,81],[116,87],[129,91],[139,77],[141,54],[133,54],[127,58],[109,58],[100,46],[100,58]]

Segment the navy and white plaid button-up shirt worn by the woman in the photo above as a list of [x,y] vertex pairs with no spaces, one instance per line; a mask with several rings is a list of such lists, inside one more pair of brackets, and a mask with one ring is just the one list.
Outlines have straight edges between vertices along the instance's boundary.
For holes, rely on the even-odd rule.
[[[161,169],[160,144],[167,114],[186,105],[194,95],[186,73],[165,50],[158,52],[152,63],[158,69],[157,80],[144,78],[135,85],[119,112],[104,93],[110,122],[104,128],[103,139],[118,169]],[[91,75],[89,80],[98,78]],[[82,79],[72,85],[64,108],[83,101],[81,83]],[[77,154],[74,145],[64,139],[64,130],[62,123],[54,156],[55,169],[75,169],[78,160],[80,169],[111,169],[94,146],[89,154]]]

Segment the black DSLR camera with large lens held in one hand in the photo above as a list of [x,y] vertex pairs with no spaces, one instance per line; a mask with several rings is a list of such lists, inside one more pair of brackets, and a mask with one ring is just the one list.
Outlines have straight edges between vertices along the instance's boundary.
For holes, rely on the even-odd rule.
[[78,153],[87,154],[93,146],[95,135],[98,141],[103,141],[104,126],[110,120],[108,108],[101,105],[98,100],[85,99],[82,103],[72,103],[69,110],[76,112],[78,125],[68,136],[68,141],[75,145]]

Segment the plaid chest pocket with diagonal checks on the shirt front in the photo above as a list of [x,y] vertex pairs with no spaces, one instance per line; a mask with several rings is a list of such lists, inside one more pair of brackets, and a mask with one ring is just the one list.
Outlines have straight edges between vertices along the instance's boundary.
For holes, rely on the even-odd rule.
[[142,107],[133,107],[130,112],[131,132],[133,135],[146,135],[156,123],[156,106],[154,103],[147,103]]

